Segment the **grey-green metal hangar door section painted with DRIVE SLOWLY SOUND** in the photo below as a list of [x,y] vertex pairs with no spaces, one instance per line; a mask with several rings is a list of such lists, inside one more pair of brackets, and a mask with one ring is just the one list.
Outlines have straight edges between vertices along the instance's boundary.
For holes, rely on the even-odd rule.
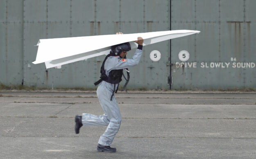
[[[255,0],[171,0],[171,29],[201,31],[172,40],[172,88],[256,88],[255,6]],[[181,50],[190,53],[184,64]]]

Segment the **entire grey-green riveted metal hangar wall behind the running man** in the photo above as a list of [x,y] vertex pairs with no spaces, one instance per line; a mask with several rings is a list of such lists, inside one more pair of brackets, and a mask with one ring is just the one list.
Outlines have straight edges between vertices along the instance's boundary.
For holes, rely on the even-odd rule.
[[[254,0],[0,0],[0,82],[96,88],[104,56],[45,69],[32,64],[34,45],[44,38],[165,31],[171,26],[201,33],[174,39],[171,45],[145,46],[140,64],[129,69],[128,88],[169,89],[169,75],[172,89],[256,88],[254,6]],[[158,62],[150,60],[153,50],[162,54]],[[184,66],[178,59],[181,50],[190,53]]]

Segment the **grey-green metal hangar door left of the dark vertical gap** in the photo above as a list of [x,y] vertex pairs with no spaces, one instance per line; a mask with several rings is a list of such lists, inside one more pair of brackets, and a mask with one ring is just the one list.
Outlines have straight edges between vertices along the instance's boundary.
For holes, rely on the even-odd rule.
[[[1,35],[6,37],[1,39],[0,45],[7,45],[7,49],[1,50],[1,68],[4,69],[1,69],[0,73],[4,76],[0,77],[0,81],[4,84],[22,84],[23,81],[26,86],[95,88],[93,83],[100,77],[104,56],[63,65],[61,69],[45,69],[44,64],[32,64],[37,51],[37,46],[34,45],[39,39],[105,35],[118,31],[139,33],[170,30],[169,0],[0,2],[3,12]],[[8,14],[5,14],[5,11]],[[152,62],[149,53],[153,49],[161,51],[166,58]],[[165,64],[168,63],[170,52],[168,41],[147,46],[143,51],[140,64],[130,69],[129,88],[169,88],[166,84],[169,70]],[[135,49],[130,51],[128,58],[134,52]]]

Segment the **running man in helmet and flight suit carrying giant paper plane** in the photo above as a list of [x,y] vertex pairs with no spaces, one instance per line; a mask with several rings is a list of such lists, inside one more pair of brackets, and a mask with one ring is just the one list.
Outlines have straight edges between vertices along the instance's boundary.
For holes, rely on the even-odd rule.
[[[117,34],[122,33],[119,32]],[[139,63],[142,54],[143,38],[138,37],[135,42],[138,44],[138,49],[131,59],[126,59],[127,51],[131,50],[129,42],[126,42],[111,46],[110,54],[106,56],[102,64],[100,71],[101,79],[95,82],[95,85],[99,84],[97,97],[104,115],[96,116],[83,113],[82,116],[77,115],[75,117],[76,134],[79,133],[79,129],[82,126],[107,126],[106,131],[100,137],[97,151],[116,152],[116,148],[111,148],[110,145],[120,128],[122,118],[114,92],[117,91],[118,84],[122,80],[122,69],[136,66]]]

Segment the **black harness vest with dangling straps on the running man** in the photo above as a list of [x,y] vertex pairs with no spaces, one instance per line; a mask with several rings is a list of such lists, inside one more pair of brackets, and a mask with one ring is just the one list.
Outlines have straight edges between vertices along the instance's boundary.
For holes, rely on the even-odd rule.
[[[107,59],[108,57],[110,57],[110,56],[111,56],[111,54],[109,54],[109,55],[107,55],[107,56],[105,57],[105,59],[104,59],[104,61],[103,61],[103,63],[102,63],[102,66],[101,66],[101,68],[100,68],[100,73],[101,73],[100,79],[99,79],[97,82],[95,82],[94,85],[96,86],[96,85],[100,84],[100,82],[102,82],[102,81],[106,81],[106,82],[108,82],[108,83],[114,84],[114,90],[113,90],[113,93],[112,93],[111,99],[110,99],[110,100],[112,100],[112,97],[113,97],[113,95],[114,95],[114,93],[115,93],[115,90],[116,90],[116,93],[117,93],[119,83],[122,81],[122,76],[125,77],[125,75],[123,74],[123,69],[120,69],[120,70],[111,70],[111,71],[109,72],[109,76],[106,75],[106,71],[105,71],[105,69],[104,69],[104,65],[105,65],[106,59]],[[125,57],[125,58],[126,58],[126,57]],[[127,79],[126,79],[126,77],[125,77],[126,82],[125,82],[125,85],[124,85],[124,87],[122,88],[121,91],[124,91],[124,89],[126,88],[128,82],[129,82],[129,79],[130,79],[130,74],[129,74],[129,72],[128,72],[128,68],[125,68],[125,69],[127,70]],[[118,84],[117,89],[116,89],[116,84]],[[127,92],[127,88],[126,88],[126,92]]]

